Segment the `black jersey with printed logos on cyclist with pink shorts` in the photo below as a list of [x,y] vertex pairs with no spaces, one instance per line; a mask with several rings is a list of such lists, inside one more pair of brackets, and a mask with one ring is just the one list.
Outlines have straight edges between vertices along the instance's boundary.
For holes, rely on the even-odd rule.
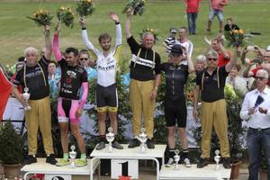
[[87,82],[87,73],[85,68],[79,66],[67,66],[65,59],[61,59],[58,63],[61,67],[59,96],[79,100],[80,88],[84,82]]

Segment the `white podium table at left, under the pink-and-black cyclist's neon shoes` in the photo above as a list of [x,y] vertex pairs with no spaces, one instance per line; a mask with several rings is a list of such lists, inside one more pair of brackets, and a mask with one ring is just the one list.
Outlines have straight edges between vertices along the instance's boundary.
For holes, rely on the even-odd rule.
[[23,179],[27,179],[27,175],[32,174],[45,174],[45,175],[93,175],[94,169],[99,164],[98,160],[94,160],[93,168],[90,170],[89,161],[90,159],[87,159],[87,166],[82,167],[75,167],[73,168],[70,165],[67,166],[55,166],[50,165],[49,163],[46,163],[46,158],[37,158],[38,162],[33,163],[31,165],[25,165],[21,169],[22,172],[25,174],[23,175]]

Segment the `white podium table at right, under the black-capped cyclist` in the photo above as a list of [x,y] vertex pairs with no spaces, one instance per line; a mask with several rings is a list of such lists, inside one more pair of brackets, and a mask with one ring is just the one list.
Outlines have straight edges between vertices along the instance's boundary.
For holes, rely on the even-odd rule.
[[162,166],[159,179],[160,180],[222,180],[229,179],[230,169],[225,169],[220,165],[220,170],[215,170],[215,165],[204,166],[197,168],[197,165],[191,167],[179,166],[179,170],[175,171],[175,166]]

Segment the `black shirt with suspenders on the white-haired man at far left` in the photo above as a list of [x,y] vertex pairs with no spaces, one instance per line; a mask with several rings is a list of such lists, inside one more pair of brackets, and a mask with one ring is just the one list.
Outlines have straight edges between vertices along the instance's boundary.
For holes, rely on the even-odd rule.
[[14,77],[14,85],[22,85],[23,92],[24,88],[27,87],[30,100],[39,100],[48,96],[48,65],[49,60],[44,56],[33,67],[25,65]]

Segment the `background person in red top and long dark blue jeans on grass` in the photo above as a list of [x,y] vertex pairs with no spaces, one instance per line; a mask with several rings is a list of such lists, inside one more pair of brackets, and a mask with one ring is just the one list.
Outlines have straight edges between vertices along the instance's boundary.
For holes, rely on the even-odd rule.
[[184,0],[184,2],[186,4],[188,31],[194,35],[201,0]]

